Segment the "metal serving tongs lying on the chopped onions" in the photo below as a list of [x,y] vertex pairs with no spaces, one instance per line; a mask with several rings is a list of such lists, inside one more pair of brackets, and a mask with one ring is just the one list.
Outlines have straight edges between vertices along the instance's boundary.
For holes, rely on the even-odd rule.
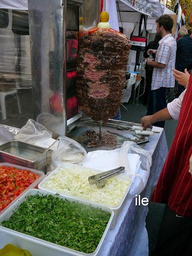
[[114,177],[120,173],[124,173],[124,167],[120,166],[118,168],[112,169],[112,170],[107,170],[92,176],[88,177],[88,181],[90,185],[96,184],[97,188],[102,188],[105,186],[106,181]]

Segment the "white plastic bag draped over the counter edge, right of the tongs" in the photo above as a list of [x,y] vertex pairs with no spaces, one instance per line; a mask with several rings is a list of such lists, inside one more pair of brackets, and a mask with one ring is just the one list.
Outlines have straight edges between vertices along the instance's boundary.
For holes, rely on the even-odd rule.
[[[136,143],[131,141],[124,141],[122,146],[120,147],[119,157],[121,164],[126,161],[127,153],[136,153],[140,156],[140,168],[137,173],[131,173],[131,175],[134,176],[133,179],[133,185],[130,189],[130,197],[135,196],[135,194],[140,194],[141,191],[144,189],[146,182],[149,177],[150,173],[150,165],[152,163],[152,156],[151,152],[144,150],[140,146],[138,146]],[[126,162],[125,162],[126,164]]]

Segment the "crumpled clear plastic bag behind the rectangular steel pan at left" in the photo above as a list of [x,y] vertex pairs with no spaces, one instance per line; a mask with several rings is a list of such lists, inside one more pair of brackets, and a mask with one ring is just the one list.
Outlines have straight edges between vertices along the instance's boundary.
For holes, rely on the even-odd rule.
[[35,144],[48,138],[51,138],[52,132],[47,130],[43,125],[28,119],[26,124],[20,128],[19,132],[14,136],[15,139]]

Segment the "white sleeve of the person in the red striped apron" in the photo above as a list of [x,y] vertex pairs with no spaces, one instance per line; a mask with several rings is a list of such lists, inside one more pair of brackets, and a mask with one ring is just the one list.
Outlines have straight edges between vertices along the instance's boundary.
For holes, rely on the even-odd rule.
[[167,109],[169,114],[173,119],[178,119],[179,112],[180,112],[180,106],[182,104],[182,99],[184,97],[184,93],[186,92],[186,89],[180,94],[178,98],[175,98],[170,103],[167,104]]

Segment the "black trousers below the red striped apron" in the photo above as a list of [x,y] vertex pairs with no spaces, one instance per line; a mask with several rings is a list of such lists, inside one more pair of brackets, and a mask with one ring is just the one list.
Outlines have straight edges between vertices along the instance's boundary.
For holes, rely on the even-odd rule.
[[157,244],[152,256],[192,255],[192,216],[181,217],[168,206],[159,228]]

